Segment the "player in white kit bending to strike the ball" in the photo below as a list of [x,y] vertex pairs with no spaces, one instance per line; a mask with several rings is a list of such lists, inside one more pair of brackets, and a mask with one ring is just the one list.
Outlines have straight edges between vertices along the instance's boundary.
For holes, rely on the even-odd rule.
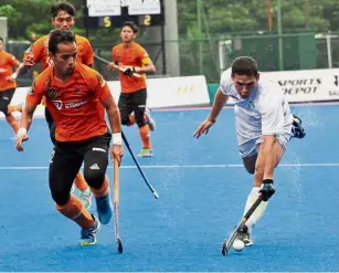
[[245,245],[252,245],[251,231],[263,216],[268,199],[274,195],[273,172],[279,164],[292,137],[305,136],[301,120],[290,114],[282,87],[258,73],[256,62],[247,56],[234,60],[223,72],[210,116],[194,133],[199,138],[208,134],[229,98],[234,101],[236,137],[246,170],[254,175],[244,209],[252,207],[259,195],[264,202],[254,211],[241,232]]

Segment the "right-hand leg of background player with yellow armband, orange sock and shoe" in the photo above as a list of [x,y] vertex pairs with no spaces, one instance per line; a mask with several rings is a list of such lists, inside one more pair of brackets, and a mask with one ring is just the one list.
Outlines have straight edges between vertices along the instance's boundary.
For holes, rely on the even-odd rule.
[[136,123],[139,127],[139,134],[142,141],[142,149],[138,155],[140,157],[151,157],[153,155],[150,144],[150,128],[145,118],[146,101],[146,90],[139,90],[133,93],[133,112],[135,113]]

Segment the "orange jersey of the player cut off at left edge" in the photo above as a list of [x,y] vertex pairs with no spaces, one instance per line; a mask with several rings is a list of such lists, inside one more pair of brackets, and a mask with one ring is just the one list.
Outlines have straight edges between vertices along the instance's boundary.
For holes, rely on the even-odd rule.
[[19,66],[18,60],[6,51],[0,51],[0,92],[17,88],[17,82],[8,82],[6,78],[13,74],[13,66]]

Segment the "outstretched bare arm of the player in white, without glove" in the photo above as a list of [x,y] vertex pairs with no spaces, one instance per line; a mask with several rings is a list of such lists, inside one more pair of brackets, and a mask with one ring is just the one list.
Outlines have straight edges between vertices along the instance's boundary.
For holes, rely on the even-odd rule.
[[222,92],[222,88],[219,87],[214,97],[213,106],[209,117],[199,126],[199,128],[194,133],[194,137],[199,138],[203,134],[208,134],[211,126],[216,123],[216,118],[224,107],[229,99],[229,95]]

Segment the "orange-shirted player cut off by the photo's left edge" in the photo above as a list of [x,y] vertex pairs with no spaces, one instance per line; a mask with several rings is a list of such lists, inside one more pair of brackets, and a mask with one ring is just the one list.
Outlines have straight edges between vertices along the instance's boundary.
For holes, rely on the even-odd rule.
[[[21,66],[12,54],[3,50],[3,39],[0,38],[0,112],[4,114],[6,120],[17,134],[19,124],[12,113],[22,112],[22,106],[10,105],[10,103],[17,88],[15,78]],[[13,67],[17,67],[15,72],[13,72]]]

